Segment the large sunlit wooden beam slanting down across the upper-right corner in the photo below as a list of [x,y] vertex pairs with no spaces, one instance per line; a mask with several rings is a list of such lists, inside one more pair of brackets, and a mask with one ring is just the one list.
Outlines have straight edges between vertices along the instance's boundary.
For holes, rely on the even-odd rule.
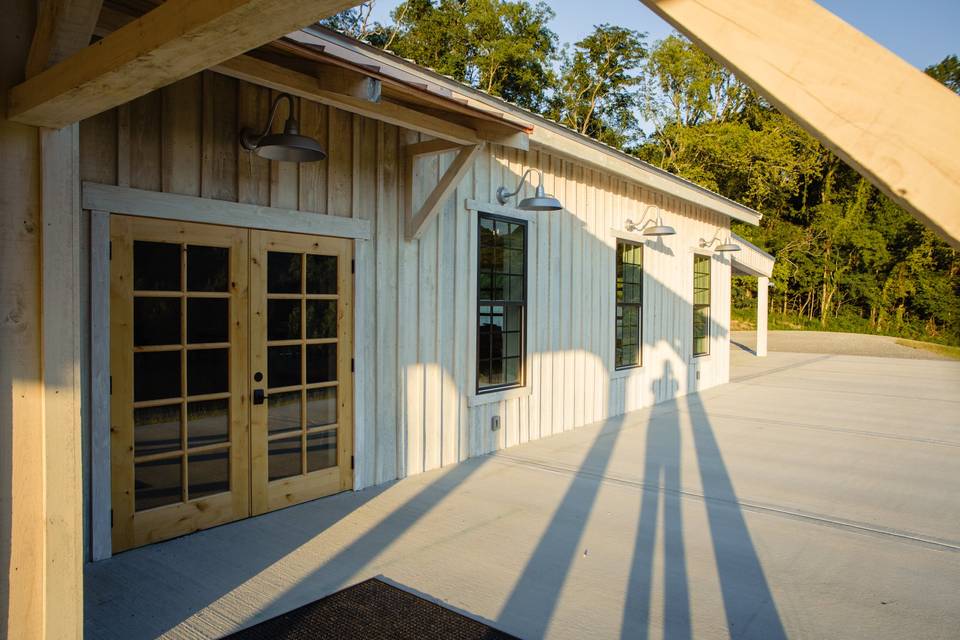
[[812,0],[642,0],[960,247],[960,97]]

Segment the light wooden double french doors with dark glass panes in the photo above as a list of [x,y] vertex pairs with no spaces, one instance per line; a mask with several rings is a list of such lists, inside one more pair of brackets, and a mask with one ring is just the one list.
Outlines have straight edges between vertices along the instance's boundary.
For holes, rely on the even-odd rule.
[[110,226],[114,551],[352,488],[352,241]]

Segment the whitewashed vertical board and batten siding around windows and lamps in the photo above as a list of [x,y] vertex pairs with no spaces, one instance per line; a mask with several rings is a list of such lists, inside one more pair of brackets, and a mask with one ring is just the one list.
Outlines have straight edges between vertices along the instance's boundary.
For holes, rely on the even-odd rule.
[[[237,133],[263,126],[273,95],[204,72],[85,120],[81,178],[371,221],[372,240],[357,241],[355,287],[366,293],[355,336],[357,487],[727,381],[730,265],[718,254],[711,353],[690,357],[693,252],[700,238],[728,233],[725,217],[543,149],[488,145],[421,238],[407,242],[402,148],[420,134],[298,100],[301,132],[319,139],[328,159],[270,162],[240,149]],[[415,204],[452,158],[417,162]],[[495,202],[497,188],[515,186],[529,167],[543,171],[547,192],[566,209],[523,216],[531,221],[527,389],[477,396],[477,211],[467,203]],[[528,185],[519,197],[529,193]],[[614,371],[612,230],[639,221],[649,204],[661,207],[677,234],[646,243],[643,366]]]

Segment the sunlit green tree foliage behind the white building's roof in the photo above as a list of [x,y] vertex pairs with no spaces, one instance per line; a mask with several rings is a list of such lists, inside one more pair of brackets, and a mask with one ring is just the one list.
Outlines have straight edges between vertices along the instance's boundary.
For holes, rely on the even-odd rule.
[[[735,230],[777,259],[775,313],[960,344],[960,253],[683,37],[601,24],[558,48],[542,2],[407,0],[391,25],[371,4],[329,24],[760,211]],[[960,93],[956,55],[926,72]]]

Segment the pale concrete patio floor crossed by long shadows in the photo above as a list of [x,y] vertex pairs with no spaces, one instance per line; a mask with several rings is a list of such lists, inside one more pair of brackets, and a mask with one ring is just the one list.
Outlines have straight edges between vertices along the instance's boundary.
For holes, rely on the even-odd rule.
[[523,638],[956,638],[960,363],[730,384],[88,565],[87,635],[219,637],[371,576]]

